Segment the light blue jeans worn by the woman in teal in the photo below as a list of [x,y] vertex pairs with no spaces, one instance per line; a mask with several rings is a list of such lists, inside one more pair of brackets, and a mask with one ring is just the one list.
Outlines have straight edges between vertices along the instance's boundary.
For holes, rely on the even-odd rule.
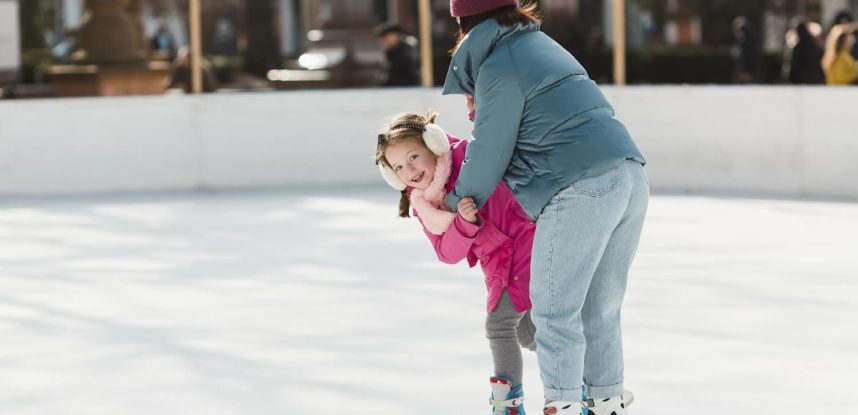
[[531,316],[545,399],[623,392],[620,310],[649,203],[643,166],[625,160],[549,201],[536,222]]

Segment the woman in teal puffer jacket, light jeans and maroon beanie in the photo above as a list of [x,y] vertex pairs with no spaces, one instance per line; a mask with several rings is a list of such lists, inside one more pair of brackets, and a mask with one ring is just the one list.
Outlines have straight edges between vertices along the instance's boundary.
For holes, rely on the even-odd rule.
[[[472,141],[447,204],[498,182],[536,223],[530,294],[546,414],[626,414],[620,309],[649,199],[645,160],[535,6],[451,0],[444,94],[472,96]],[[581,385],[590,398],[581,402]]]

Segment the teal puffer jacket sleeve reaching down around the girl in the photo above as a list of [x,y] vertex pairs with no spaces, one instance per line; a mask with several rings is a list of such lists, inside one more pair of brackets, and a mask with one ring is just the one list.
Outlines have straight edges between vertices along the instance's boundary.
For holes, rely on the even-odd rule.
[[[509,51],[500,48],[494,53]],[[447,204],[453,211],[463,197],[473,197],[477,207],[482,207],[512,159],[525,99],[512,59],[506,62],[506,65],[486,62],[477,77],[471,142],[456,188],[447,195]]]

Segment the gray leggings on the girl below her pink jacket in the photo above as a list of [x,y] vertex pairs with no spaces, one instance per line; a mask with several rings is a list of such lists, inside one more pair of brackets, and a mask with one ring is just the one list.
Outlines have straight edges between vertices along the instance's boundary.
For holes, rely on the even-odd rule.
[[513,386],[521,384],[521,348],[536,350],[533,334],[536,328],[530,321],[530,311],[519,313],[506,290],[494,311],[486,316],[486,338],[492,349],[495,376],[509,379]]

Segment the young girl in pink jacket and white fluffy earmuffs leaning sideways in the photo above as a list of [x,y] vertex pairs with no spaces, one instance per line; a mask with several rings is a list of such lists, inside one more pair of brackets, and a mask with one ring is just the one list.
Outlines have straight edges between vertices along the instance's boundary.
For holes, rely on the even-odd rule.
[[468,142],[435,125],[435,115],[407,113],[378,135],[376,163],[382,177],[402,192],[399,216],[410,208],[438,259],[471,267],[480,263],[488,289],[486,337],[495,376],[490,378],[494,415],[524,415],[522,347],[535,349],[530,322],[530,252],[536,227],[509,189],[499,184],[482,208],[463,198],[446,209],[444,198],[455,185]]

